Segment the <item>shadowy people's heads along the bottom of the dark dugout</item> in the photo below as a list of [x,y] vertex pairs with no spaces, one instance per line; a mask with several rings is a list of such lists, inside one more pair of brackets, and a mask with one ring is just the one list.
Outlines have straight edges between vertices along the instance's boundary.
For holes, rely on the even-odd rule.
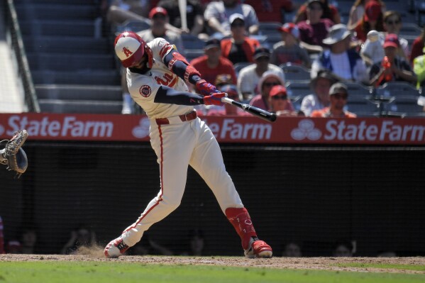
[[[6,231],[6,232],[4,232]],[[18,238],[7,237],[7,226],[4,228],[0,217],[0,255],[9,254],[43,254],[39,248],[38,232],[34,226],[20,229],[21,235]],[[126,255],[191,255],[202,256],[209,255],[206,249],[208,243],[205,241],[204,231],[202,229],[189,229],[183,238],[173,241],[174,245],[162,245],[152,240],[149,235],[143,235],[143,240],[137,243]],[[96,233],[89,228],[87,224],[79,224],[70,232],[70,238],[62,246],[57,254],[62,255],[85,255],[87,250],[96,248]],[[303,257],[304,245],[301,242],[290,240],[283,242],[281,252],[275,256],[279,257]],[[355,257],[357,253],[357,243],[355,240],[338,239],[328,243],[326,248],[317,248],[324,250],[315,251],[315,248],[307,248],[308,253],[315,253],[320,256],[330,257]],[[395,257],[394,251],[381,251],[377,257]]]

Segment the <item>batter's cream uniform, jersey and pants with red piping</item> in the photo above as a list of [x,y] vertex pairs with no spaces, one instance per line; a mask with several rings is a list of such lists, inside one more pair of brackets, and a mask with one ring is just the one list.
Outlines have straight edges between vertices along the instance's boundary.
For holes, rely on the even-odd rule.
[[[226,172],[219,144],[209,127],[199,118],[182,121],[178,117],[194,111],[194,107],[155,103],[161,84],[177,91],[188,89],[184,81],[168,70],[162,61],[165,55],[172,52],[172,45],[162,38],[156,38],[148,46],[153,52],[152,69],[145,74],[127,70],[127,84],[133,99],[150,117],[150,144],[158,157],[161,188],[138,220],[123,231],[123,241],[129,246],[138,243],[144,231],[180,205],[189,165],[208,184],[223,213],[228,208],[243,207]],[[157,118],[167,118],[170,123],[158,123]]]

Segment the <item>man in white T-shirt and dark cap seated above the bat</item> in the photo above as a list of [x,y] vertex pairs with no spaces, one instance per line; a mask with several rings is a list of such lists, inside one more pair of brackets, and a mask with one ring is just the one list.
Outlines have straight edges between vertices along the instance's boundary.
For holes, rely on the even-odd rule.
[[275,72],[282,82],[285,82],[285,74],[282,69],[270,64],[270,50],[259,47],[255,50],[253,58],[255,64],[244,67],[238,75],[238,89],[242,94],[243,101],[249,101],[255,94],[260,93],[258,82],[267,71]]

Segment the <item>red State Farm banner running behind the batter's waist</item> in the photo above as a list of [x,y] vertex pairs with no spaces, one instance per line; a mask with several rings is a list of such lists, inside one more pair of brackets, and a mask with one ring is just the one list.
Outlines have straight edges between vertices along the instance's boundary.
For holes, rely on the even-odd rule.
[[[246,116],[205,116],[202,120],[220,143],[425,145],[425,118],[279,117],[269,123]],[[143,115],[0,114],[0,139],[25,128],[28,140],[149,141],[149,127]]]

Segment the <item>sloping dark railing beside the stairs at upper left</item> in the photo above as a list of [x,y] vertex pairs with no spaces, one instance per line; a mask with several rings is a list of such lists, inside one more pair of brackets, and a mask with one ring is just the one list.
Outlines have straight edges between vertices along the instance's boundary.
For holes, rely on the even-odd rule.
[[6,19],[6,35],[16,57],[18,75],[22,82],[26,107],[29,112],[40,112],[13,0],[7,0]]

